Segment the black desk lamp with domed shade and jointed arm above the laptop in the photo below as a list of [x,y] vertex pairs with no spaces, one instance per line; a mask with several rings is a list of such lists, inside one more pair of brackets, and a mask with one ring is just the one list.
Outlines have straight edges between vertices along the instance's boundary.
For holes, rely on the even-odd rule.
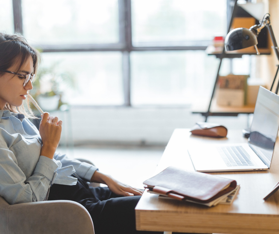
[[[258,40],[257,37],[259,35],[259,33],[261,32],[261,29],[263,29],[264,27],[267,27],[273,46],[272,48],[274,48],[275,50],[275,54],[277,56],[277,59],[279,60],[279,49],[274,37],[274,33],[270,24],[270,14],[267,13],[264,15],[263,19],[260,21],[259,25],[254,25],[252,26],[250,29],[245,29],[245,28],[237,28],[237,29],[233,29],[232,31],[230,31],[225,38],[225,49],[226,51],[232,51],[232,50],[240,50],[243,48],[247,48],[250,46],[255,46],[256,48],[256,52],[259,55],[260,52],[258,50],[257,44],[258,44]],[[277,77],[278,74],[278,69],[279,66],[277,66],[277,71],[275,74],[275,77],[273,79],[270,91],[273,88],[275,79]],[[279,89],[279,81],[277,84],[277,88],[275,91],[275,94],[278,94],[278,89]]]

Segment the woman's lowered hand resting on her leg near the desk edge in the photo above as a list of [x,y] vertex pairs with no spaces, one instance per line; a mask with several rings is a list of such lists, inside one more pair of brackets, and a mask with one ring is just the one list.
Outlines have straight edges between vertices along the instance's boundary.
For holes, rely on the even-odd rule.
[[91,182],[106,184],[109,187],[110,191],[124,197],[142,195],[143,193],[143,191],[132,188],[127,184],[123,184],[115,180],[111,176],[105,175],[99,171],[95,171],[91,178]]

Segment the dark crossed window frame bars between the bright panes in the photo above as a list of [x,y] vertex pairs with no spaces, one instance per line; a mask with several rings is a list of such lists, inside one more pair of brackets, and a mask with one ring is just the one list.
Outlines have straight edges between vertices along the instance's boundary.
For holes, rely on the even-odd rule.
[[[227,6],[230,0],[227,0]],[[15,32],[24,35],[22,21],[21,0],[12,0]],[[175,45],[174,42],[164,42],[155,46],[154,42],[132,45],[131,0],[118,0],[119,11],[119,42],[111,44],[69,44],[69,45],[41,45],[38,49],[47,52],[85,52],[85,51],[120,51],[122,53],[123,96],[124,104],[131,107],[131,66],[130,53],[132,51],[155,50],[205,50],[211,41],[188,41],[185,45]],[[168,45],[169,44],[169,45]],[[174,45],[171,45],[174,44]],[[114,105],[112,105],[114,106]],[[119,106],[119,105],[117,105]],[[92,105],[92,107],[96,107]],[[100,107],[98,105],[98,107]],[[102,107],[102,105],[101,105]],[[162,107],[162,105],[158,105]]]

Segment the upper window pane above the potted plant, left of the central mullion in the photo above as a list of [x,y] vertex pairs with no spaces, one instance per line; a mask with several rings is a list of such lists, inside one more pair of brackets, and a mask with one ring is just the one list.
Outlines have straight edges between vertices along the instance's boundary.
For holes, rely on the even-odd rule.
[[24,0],[22,15],[23,33],[30,42],[63,45],[119,41],[117,0]]

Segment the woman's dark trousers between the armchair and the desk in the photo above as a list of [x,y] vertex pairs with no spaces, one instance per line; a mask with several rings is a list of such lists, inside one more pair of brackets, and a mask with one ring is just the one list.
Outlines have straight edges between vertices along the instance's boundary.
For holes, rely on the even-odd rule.
[[76,178],[76,185],[53,184],[48,200],[71,200],[83,205],[91,215],[95,234],[162,234],[136,230],[135,207],[140,196],[120,197],[107,187],[89,187]]

